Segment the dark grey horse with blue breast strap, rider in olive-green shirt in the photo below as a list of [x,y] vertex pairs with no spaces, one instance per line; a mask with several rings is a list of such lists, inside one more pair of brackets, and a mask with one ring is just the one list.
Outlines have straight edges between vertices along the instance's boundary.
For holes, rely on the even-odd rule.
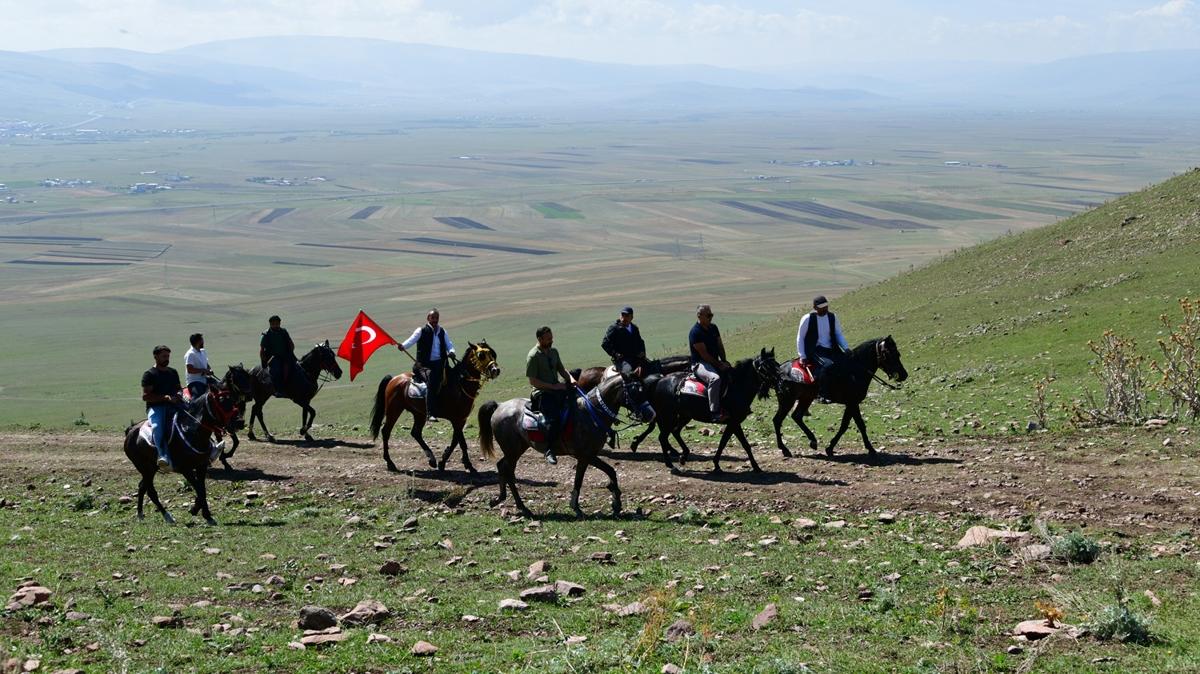
[[[617,419],[617,410],[625,407],[642,421],[654,419],[654,409],[646,402],[642,383],[626,374],[613,374],[588,392],[580,391],[568,405],[566,427],[563,431],[563,446],[557,450],[559,456],[575,457],[575,487],[571,491],[571,510],[582,518],[580,510],[580,488],[583,486],[583,474],[589,465],[596,467],[608,476],[608,491],[612,492],[612,513],[620,514],[620,487],[617,485],[617,471],[600,458],[610,426]],[[516,465],[521,455],[529,447],[545,451],[545,443],[529,439],[521,423],[524,416],[526,398],[512,398],[503,403],[488,401],[479,408],[479,445],[487,458],[496,457],[496,444],[500,445],[504,456],[496,463],[500,477],[500,494],[492,500],[492,507],[504,503],[506,488],[512,489],[512,500],[526,517],[533,517],[521,494],[517,492]]]

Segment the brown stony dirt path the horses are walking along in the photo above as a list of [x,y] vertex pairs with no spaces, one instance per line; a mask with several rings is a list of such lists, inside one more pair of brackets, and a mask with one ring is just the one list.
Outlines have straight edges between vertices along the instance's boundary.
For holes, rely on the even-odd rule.
[[[726,451],[726,473],[712,473],[707,441],[688,464],[685,476],[673,476],[661,455],[622,450],[612,456],[626,510],[638,506],[678,511],[688,506],[714,510],[790,511],[812,516],[829,508],[842,512],[896,511],[947,514],[973,513],[1015,519],[1034,514],[1074,526],[1103,526],[1129,532],[1200,525],[1200,459],[1193,443],[1177,437],[1170,447],[1142,432],[1081,439],[1006,441],[946,441],[892,447],[868,463],[862,453],[827,459],[805,451],[785,459],[774,447],[756,447],[761,474],[748,471],[740,449]],[[695,447],[694,447],[695,449]],[[857,452],[858,450],[848,450]],[[216,480],[289,482],[295,487],[395,487],[426,500],[461,501],[486,510],[496,494],[493,464],[472,441],[478,476],[462,470],[457,456],[438,475],[425,467],[412,443],[394,445],[392,457],[413,473],[389,474],[377,447],[364,440],[318,445],[242,441],[235,471],[216,470]],[[0,482],[40,482],[133,471],[118,441],[100,433],[0,434]],[[536,512],[568,512],[574,462],[557,468],[527,453],[517,467],[522,495]],[[599,471],[589,471],[583,488],[584,508],[607,507],[608,494]],[[511,501],[510,501],[511,504]]]

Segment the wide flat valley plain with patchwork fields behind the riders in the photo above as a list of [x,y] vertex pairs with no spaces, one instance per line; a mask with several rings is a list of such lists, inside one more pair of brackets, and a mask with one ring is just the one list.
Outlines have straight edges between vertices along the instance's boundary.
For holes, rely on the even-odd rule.
[[[337,343],[359,308],[402,337],[436,305],[460,343],[487,338],[499,349],[504,375],[486,395],[518,395],[524,389],[521,357],[539,325],[556,329],[569,366],[598,365],[604,326],[617,307],[632,303],[650,350],[679,353],[700,302],[714,305],[726,333],[762,325],[816,291],[839,295],[952,251],[1050,223],[1054,215],[1030,209],[1108,199],[1165,177],[1194,155],[1193,146],[1177,140],[1118,143],[1130,125],[1151,122],[1108,119],[965,115],[949,128],[936,114],[871,113],[515,125],[360,119],[337,122],[344,127],[337,133],[329,120],[300,118],[283,130],[263,120],[211,122],[241,124],[241,130],[190,121],[200,128],[186,137],[78,144],[23,139],[4,146],[2,182],[84,177],[95,186],[12,191],[20,203],[0,207],[0,234],[90,236],[103,239],[97,246],[167,251],[124,266],[0,264],[6,345],[0,426],[70,427],[82,415],[95,427],[120,427],[140,414],[136,384],[150,347],[173,345],[179,365],[186,336],[203,331],[215,363],[253,363],[258,332],[272,313],[283,315],[305,345]],[[133,122],[97,122],[106,124]],[[1190,122],[1153,124],[1188,137]],[[971,146],[964,137],[973,139]],[[1138,158],[1115,164],[1093,156],[1117,149]],[[856,166],[799,166],[847,158]],[[944,166],[949,160],[1006,168]],[[148,170],[157,173],[143,176]],[[192,181],[170,192],[124,192],[131,182],[174,171]],[[292,187],[246,181],[262,175],[328,180]],[[812,217],[817,227],[721,204],[778,211],[766,203],[814,199],[876,218],[899,217],[857,204],[887,201],[910,209],[905,217],[926,228],[851,223],[828,229],[847,223]],[[545,218],[529,206],[540,203],[570,204],[587,219]],[[380,209],[350,219],[367,206]],[[294,210],[262,222],[274,209]],[[966,211],[980,217],[911,215]],[[434,217],[472,218],[492,230],[456,229]],[[104,261],[92,245],[0,240],[5,263],[77,259],[72,254]],[[853,306],[845,309],[856,337],[895,318]],[[884,306],[889,302],[875,307]],[[913,325],[917,318],[907,320]],[[757,331],[755,339],[737,341],[733,355],[749,353],[750,342],[788,351],[787,332],[785,326],[758,338],[768,333]],[[924,344],[904,344],[918,365],[932,357],[920,353]],[[378,377],[404,366],[397,354],[384,353],[362,379],[330,384],[319,397],[318,422],[352,433],[362,423]],[[296,409],[271,407],[287,415],[284,428],[293,425]]]

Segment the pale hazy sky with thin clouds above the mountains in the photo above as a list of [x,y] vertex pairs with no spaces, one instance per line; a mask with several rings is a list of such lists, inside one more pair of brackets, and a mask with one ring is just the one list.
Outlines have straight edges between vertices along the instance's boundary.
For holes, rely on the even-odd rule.
[[0,0],[0,49],[340,35],[632,64],[1044,61],[1200,48],[1195,0]]

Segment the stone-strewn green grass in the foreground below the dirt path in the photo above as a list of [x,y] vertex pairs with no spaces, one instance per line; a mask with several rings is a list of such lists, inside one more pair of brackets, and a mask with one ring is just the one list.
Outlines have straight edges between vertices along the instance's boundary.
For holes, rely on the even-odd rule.
[[[40,658],[46,670],[658,672],[671,662],[731,673],[1018,672],[1036,660],[1039,672],[1075,672],[1106,657],[1121,670],[1178,672],[1200,656],[1200,602],[1187,590],[1195,566],[1148,554],[1152,537],[1118,542],[1097,565],[1010,566],[994,550],[954,549],[973,524],[958,517],[883,524],[870,513],[800,510],[772,523],[762,513],[692,506],[672,519],[679,506],[643,501],[646,518],[530,523],[397,489],[292,482],[212,482],[222,526],[168,526],[154,514],[134,522],[132,506],[118,499],[131,486],[127,476],[94,477],[86,487],[83,479],[0,474],[0,498],[12,504],[0,525],[0,579],[16,586],[32,578],[54,591],[52,608],[0,619],[0,646],[11,657]],[[175,480],[160,487],[187,522],[188,495]],[[90,510],[72,506],[80,494],[94,499]],[[790,520],[800,514],[848,524],[799,530]],[[412,516],[419,526],[401,530]],[[380,550],[376,541],[391,546]],[[614,564],[590,561],[599,550],[613,553]],[[388,559],[408,571],[380,576]],[[499,600],[536,584],[523,576],[539,559],[551,562],[551,580],[582,584],[583,598],[500,612]],[[1052,600],[1048,589],[1106,601],[1096,588],[1106,586],[1116,564],[1138,578],[1128,603],[1153,616],[1160,640],[1085,638],[1006,652],[1006,631],[1034,618],[1034,602]],[[510,580],[509,571],[522,580]],[[283,584],[266,584],[272,574]],[[356,582],[343,585],[342,577]],[[263,592],[251,591],[256,583]],[[1142,589],[1163,606],[1151,607]],[[382,601],[391,618],[348,628],[349,639],[328,650],[287,646],[300,636],[292,621],[302,606],[342,613],[362,598]],[[650,610],[618,618],[604,608],[634,601]],[[756,631],[751,619],[768,603],[779,616]],[[67,610],[90,618],[68,621]],[[182,628],[150,625],[173,613]],[[464,614],[482,620],[468,624]],[[662,640],[679,619],[696,634]],[[1085,619],[1068,607],[1063,620]],[[371,632],[395,642],[370,644]],[[570,636],[588,639],[563,645]],[[409,655],[419,639],[439,646],[432,662]]]

